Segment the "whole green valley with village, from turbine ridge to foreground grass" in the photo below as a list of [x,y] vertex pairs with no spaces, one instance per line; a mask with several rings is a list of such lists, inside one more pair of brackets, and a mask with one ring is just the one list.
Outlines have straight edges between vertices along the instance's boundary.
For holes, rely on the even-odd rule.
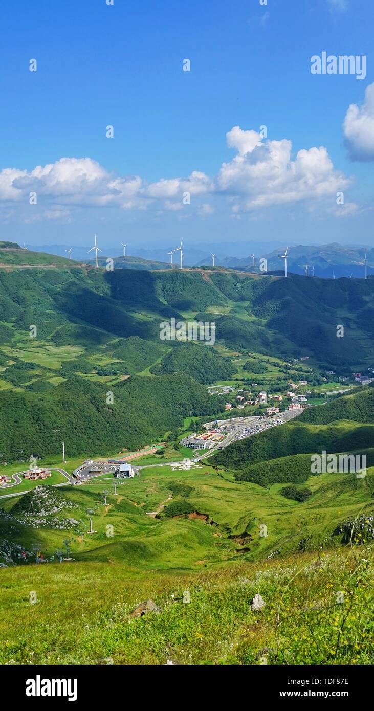
[[374,282],[3,251],[1,663],[371,663]]

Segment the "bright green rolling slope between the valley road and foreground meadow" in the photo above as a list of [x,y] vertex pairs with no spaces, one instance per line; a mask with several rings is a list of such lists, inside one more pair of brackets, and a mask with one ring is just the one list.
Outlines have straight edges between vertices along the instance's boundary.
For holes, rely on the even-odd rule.
[[[176,483],[191,486],[186,501],[192,510],[208,515],[209,523],[201,520],[151,518],[146,511],[161,510],[161,503],[170,503],[169,496]],[[171,485],[171,486],[169,486]],[[137,570],[196,570],[203,564],[212,567],[226,561],[265,559],[274,551],[287,555],[298,550],[314,550],[319,545],[339,545],[341,537],[333,535],[336,525],[360,512],[373,512],[373,470],[365,480],[351,474],[321,474],[311,476],[307,486],[312,496],[297,503],[281,495],[282,486],[273,484],[269,490],[255,483],[233,481],[202,466],[191,471],[171,471],[167,466],[144,469],[140,478],[118,486],[114,496],[112,477],[100,478],[89,485],[62,487],[68,500],[78,505],[74,518],[79,525],[72,528],[72,550],[77,560],[116,560]],[[108,506],[102,506],[102,493],[108,492]],[[27,495],[26,495],[27,496]],[[178,499],[178,496],[174,496]],[[16,498],[1,501],[1,507],[11,513]],[[97,534],[87,536],[87,508],[94,508]],[[18,522],[19,524],[20,522]],[[43,551],[53,555],[61,547],[65,531],[40,531],[26,528],[12,533],[12,540],[28,547],[30,535],[39,536]],[[107,525],[114,535],[107,536]],[[260,535],[260,526],[267,526],[267,536]],[[6,535],[9,523],[2,522]],[[241,543],[235,536],[248,536]],[[242,550],[242,546],[249,550]]]

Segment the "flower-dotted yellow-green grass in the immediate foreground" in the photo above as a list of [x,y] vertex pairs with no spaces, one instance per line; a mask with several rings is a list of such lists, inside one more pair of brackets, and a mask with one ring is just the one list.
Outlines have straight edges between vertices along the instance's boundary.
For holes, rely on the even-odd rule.
[[[1,570],[1,582],[3,664],[374,661],[372,560],[354,540],[333,553],[196,574],[57,563]],[[252,610],[255,594],[261,611]],[[159,614],[132,619],[149,598]]]

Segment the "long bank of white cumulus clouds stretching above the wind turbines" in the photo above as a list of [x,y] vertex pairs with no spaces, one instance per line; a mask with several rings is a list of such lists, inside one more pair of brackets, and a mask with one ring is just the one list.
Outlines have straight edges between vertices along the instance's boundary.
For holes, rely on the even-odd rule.
[[236,154],[213,177],[192,171],[187,177],[147,183],[140,176],[114,176],[91,158],[61,158],[31,171],[5,168],[0,171],[0,203],[4,209],[23,204],[29,213],[29,195],[36,192],[40,215],[52,220],[66,219],[80,207],[146,210],[151,206],[181,213],[195,210],[206,216],[214,209],[206,198],[215,197],[227,198],[238,215],[300,201],[323,203],[350,183],[334,169],[324,146],[301,149],[293,156],[288,139],[265,139],[239,126],[226,134],[226,140]]

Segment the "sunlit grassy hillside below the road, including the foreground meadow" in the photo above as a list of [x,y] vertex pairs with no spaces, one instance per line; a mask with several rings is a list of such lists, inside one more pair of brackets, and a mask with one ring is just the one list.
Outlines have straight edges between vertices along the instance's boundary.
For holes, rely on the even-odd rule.
[[[204,466],[159,467],[119,486],[117,496],[103,476],[4,500],[0,560],[11,567],[1,570],[0,661],[28,663],[32,651],[41,664],[109,657],[246,665],[264,663],[264,655],[274,664],[285,655],[291,665],[372,663],[373,477],[373,470],[360,482],[309,477],[311,496],[298,502],[279,484],[235,482]],[[167,501],[164,517],[147,515]],[[205,518],[188,518],[191,511]],[[73,560],[60,564],[55,552],[67,538]],[[44,563],[37,586],[33,547]],[[265,601],[260,613],[251,609],[255,594]],[[147,599],[158,614],[132,616]]]

